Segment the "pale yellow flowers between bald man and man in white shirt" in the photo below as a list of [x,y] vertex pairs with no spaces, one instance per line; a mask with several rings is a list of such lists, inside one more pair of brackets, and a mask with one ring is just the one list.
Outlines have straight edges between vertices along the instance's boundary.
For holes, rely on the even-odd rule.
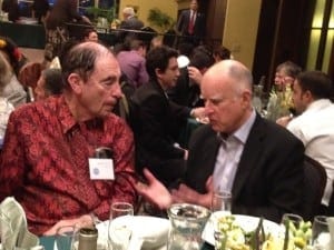
[[292,88],[289,84],[283,91],[272,90],[267,104],[266,118],[276,121],[281,117],[288,116],[293,108]]

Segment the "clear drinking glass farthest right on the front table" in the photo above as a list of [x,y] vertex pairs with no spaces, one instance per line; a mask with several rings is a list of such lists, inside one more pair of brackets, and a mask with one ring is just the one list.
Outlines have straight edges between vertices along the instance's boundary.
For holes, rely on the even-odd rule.
[[330,228],[327,217],[316,216],[312,227],[312,244],[314,250],[330,250]]

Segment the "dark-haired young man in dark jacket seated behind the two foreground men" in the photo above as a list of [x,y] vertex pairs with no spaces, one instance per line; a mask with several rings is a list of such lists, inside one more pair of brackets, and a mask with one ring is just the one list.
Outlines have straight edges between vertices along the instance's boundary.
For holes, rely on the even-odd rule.
[[[137,89],[130,100],[138,170],[148,167],[166,186],[184,176],[188,156],[176,142],[178,121],[191,110],[169,101],[166,93],[179,77],[177,56],[168,47],[150,50],[146,58],[150,81]],[[193,113],[196,111],[200,110],[194,109]]]

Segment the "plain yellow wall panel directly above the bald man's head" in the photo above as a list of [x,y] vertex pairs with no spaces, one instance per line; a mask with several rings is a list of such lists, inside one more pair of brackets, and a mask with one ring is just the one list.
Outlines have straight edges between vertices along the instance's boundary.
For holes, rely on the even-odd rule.
[[223,44],[236,60],[253,67],[262,0],[228,0]]

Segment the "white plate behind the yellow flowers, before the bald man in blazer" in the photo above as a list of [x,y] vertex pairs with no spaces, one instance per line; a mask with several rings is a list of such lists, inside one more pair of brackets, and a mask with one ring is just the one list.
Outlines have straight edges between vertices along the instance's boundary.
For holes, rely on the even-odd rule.
[[[203,233],[202,239],[208,242],[209,244],[215,244],[215,238],[214,238],[214,228],[213,228],[213,220],[215,218],[219,218],[222,216],[226,216],[226,212],[214,212],[210,217],[210,219],[207,221]],[[239,216],[239,214],[233,214],[235,217],[235,222],[244,229],[246,232],[254,231],[256,227],[258,226],[259,218],[258,217],[249,217],[249,216]],[[283,228],[269,220],[263,220],[264,231],[266,233],[272,233],[273,236],[284,236]]]

